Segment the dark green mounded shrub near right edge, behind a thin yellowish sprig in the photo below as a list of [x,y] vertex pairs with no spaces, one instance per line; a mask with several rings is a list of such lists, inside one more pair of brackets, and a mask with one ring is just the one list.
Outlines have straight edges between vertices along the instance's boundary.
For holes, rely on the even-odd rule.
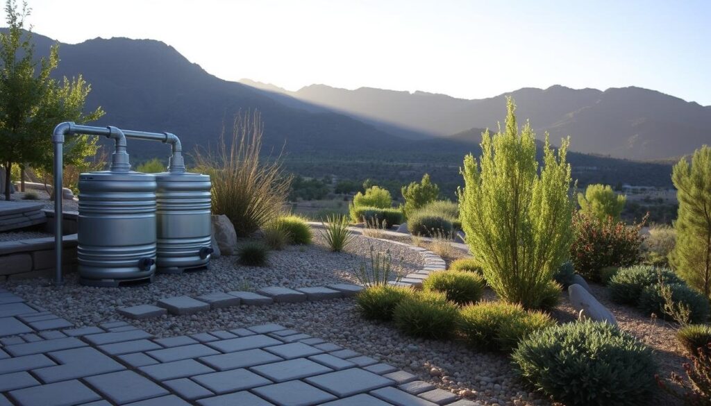
[[[688,321],[692,323],[705,323],[709,316],[709,303],[704,295],[695,292],[683,283],[665,283],[671,291],[671,300],[675,304],[682,304],[689,310]],[[665,300],[661,294],[661,286],[653,284],[645,287],[637,301],[637,307],[645,314],[657,314],[658,316],[675,316],[665,311]]]

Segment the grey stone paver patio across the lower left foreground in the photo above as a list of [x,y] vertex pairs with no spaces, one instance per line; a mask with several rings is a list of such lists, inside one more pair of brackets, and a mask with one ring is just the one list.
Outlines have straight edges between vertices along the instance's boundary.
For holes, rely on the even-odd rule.
[[73,328],[0,289],[0,406],[476,405],[416,379],[278,324],[169,338],[124,321]]

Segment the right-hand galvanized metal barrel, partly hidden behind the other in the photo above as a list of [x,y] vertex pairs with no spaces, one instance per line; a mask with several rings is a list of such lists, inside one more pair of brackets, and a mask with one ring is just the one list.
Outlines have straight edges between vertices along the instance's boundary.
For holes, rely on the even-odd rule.
[[212,206],[210,176],[156,173],[159,272],[204,269],[210,263]]

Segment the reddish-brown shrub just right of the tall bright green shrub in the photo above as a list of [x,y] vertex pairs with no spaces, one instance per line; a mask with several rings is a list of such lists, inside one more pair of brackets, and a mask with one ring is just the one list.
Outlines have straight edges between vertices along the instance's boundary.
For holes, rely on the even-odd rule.
[[629,267],[641,262],[644,222],[627,226],[611,218],[599,220],[592,215],[576,213],[572,227],[574,239],[570,246],[570,260],[575,272],[585,279],[600,282],[600,269]]

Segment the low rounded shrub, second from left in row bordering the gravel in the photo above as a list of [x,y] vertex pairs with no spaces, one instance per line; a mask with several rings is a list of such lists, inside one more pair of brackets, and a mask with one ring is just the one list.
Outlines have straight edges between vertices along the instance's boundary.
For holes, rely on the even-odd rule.
[[392,320],[408,336],[447,338],[454,333],[459,308],[442,292],[415,292],[395,306]]

